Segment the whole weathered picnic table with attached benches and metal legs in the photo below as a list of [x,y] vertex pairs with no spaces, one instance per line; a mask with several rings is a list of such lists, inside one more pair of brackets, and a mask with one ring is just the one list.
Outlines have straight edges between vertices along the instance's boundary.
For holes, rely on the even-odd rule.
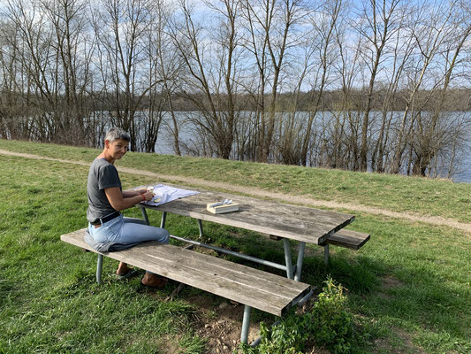
[[[154,185],[140,186],[136,189],[151,186]],[[183,186],[172,185],[172,187],[188,189]],[[84,241],[86,228],[61,235],[61,240],[98,254],[96,266],[96,281],[98,283],[103,283],[103,257],[108,257],[244,304],[240,341],[247,343],[252,308],[282,316],[287,309],[296,304],[304,304],[312,296],[311,286],[300,282],[306,243],[322,246],[324,259],[327,262],[329,244],[358,250],[369,239],[367,234],[344,229],[353,222],[353,215],[300,205],[281,204],[247,196],[235,196],[223,192],[193,190],[199,193],[166,204],[157,206],[139,204],[143,220],[139,219],[136,222],[149,224],[147,211],[154,210],[162,212],[161,227],[165,227],[166,215],[171,212],[196,219],[200,235],[203,235],[202,221],[211,221],[270,235],[275,240],[283,240],[285,265],[232,250],[224,250],[178,235],[171,235],[171,237],[188,242],[190,245],[182,248],[172,244],[144,242],[132,249],[103,253],[94,250]],[[222,214],[213,214],[207,211],[207,204],[224,199],[232,199],[238,203],[239,211]],[[294,266],[292,265],[290,240],[299,243],[298,258]],[[239,265],[224,258],[211,257],[188,250],[194,244],[284,270],[286,277],[267,273],[250,266]],[[251,345],[256,342],[254,341]]]

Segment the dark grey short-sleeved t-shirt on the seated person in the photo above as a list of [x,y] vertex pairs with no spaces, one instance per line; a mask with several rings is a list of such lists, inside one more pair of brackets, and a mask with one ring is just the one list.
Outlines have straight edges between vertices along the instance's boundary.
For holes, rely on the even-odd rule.
[[111,187],[119,187],[122,190],[118,170],[106,159],[95,158],[92,165],[90,165],[87,180],[87,219],[91,223],[96,223],[98,219],[116,212],[104,193],[104,189]]

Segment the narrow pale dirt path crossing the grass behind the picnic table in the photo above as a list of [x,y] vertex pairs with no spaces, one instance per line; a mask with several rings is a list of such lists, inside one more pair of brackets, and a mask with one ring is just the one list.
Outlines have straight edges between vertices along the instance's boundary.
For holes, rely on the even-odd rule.
[[[70,160],[65,160],[62,158],[46,158],[46,157],[42,157],[38,155],[12,152],[12,151],[1,150],[1,149],[0,149],[0,154],[18,156],[21,158],[43,159],[43,160],[62,162],[65,164],[72,164],[72,165],[85,165],[85,166],[89,165],[88,163],[81,162],[81,161],[70,161]],[[338,203],[338,202],[333,202],[333,201],[314,199],[308,196],[292,196],[292,195],[288,195],[281,192],[270,192],[263,189],[256,189],[252,187],[233,185],[230,183],[206,181],[200,178],[175,176],[175,175],[170,175],[170,174],[153,173],[153,172],[148,172],[144,170],[137,170],[134,168],[127,168],[127,167],[120,167],[120,166],[118,166],[118,171],[122,173],[141,174],[143,176],[148,176],[156,180],[163,179],[166,181],[173,181],[175,183],[191,184],[193,186],[198,186],[201,188],[224,189],[224,190],[232,191],[235,193],[244,193],[249,196],[269,197],[271,199],[277,199],[277,200],[280,200],[286,203],[291,203],[291,204],[303,204],[303,205],[308,205],[308,206],[327,207],[327,208],[332,208],[332,209],[346,209],[352,212],[368,212],[370,214],[384,215],[384,216],[388,216],[392,218],[407,219],[410,221],[420,221],[420,222],[427,223],[430,225],[455,227],[471,235],[471,224],[466,224],[466,223],[462,223],[453,219],[446,219],[442,217],[428,217],[428,216],[422,216],[422,215],[406,213],[406,212],[392,212],[387,209],[368,207],[361,204]]]

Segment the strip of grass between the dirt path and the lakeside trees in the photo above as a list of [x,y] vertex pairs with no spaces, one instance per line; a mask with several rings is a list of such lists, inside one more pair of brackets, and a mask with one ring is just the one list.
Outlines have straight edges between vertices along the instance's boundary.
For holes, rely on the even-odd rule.
[[[100,150],[0,140],[0,149],[90,163]],[[470,223],[471,185],[422,177],[128,152],[118,165]],[[209,173],[210,171],[210,173]]]

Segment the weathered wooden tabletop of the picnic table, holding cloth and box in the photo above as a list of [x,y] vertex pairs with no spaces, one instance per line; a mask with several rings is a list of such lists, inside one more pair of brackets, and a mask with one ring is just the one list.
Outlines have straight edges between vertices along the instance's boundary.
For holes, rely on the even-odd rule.
[[[156,184],[149,184],[148,186]],[[146,209],[171,212],[194,219],[212,221],[218,224],[315,244],[322,243],[329,235],[346,227],[354,219],[353,215],[341,212],[275,203],[247,196],[236,196],[224,192],[194,189],[168,183],[166,185],[180,189],[196,190],[200,193],[158,206],[148,204],[141,204],[141,206]],[[136,189],[144,187],[147,186],[137,187]],[[216,203],[226,198],[239,204],[239,212],[213,214],[206,210],[208,203]]]

